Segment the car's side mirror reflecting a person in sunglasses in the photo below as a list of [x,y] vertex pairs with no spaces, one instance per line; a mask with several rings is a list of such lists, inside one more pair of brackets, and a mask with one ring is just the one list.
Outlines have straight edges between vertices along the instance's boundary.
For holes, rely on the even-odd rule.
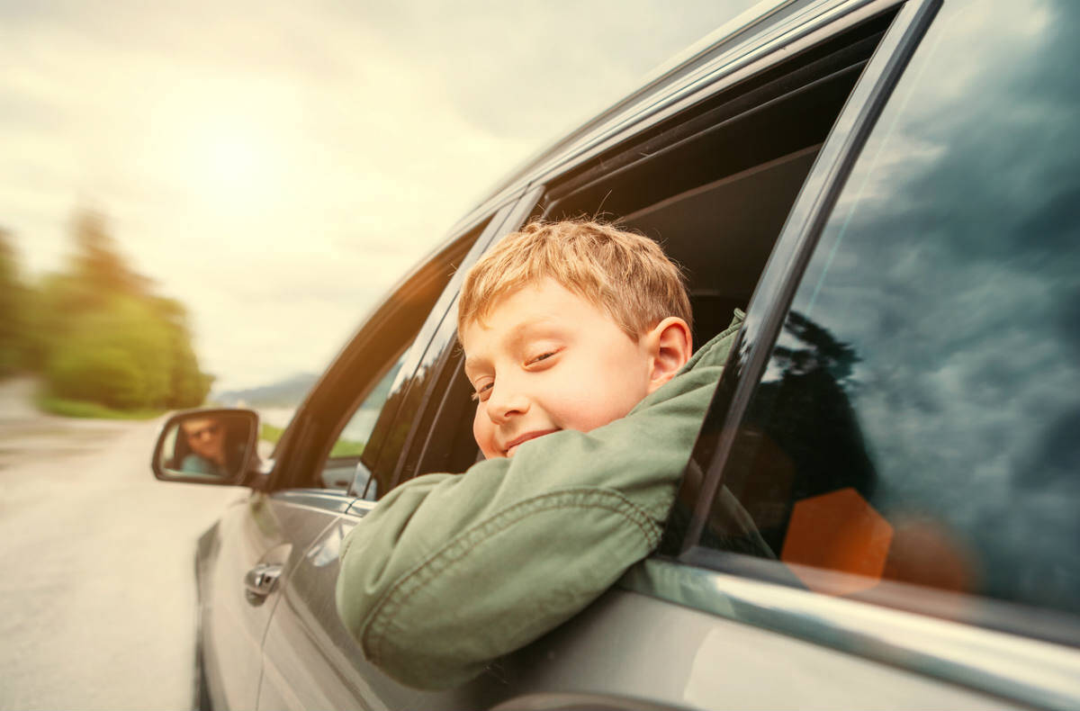
[[153,475],[166,482],[240,484],[253,460],[259,416],[251,410],[190,410],[165,421]]

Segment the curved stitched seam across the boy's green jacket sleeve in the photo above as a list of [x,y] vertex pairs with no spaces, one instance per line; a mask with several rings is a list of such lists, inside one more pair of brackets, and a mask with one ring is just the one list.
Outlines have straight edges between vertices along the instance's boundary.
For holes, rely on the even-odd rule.
[[564,488],[519,501],[454,537],[428,560],[394,582],[382,603],[377,605],[368,617],[365,634],[368,640],[366,646],[369,647],[368,658],[373,661],[379,659],[381,656],[379,650],[386,641],[388,630],[413,594],[465,558],[476,546],[534,514],[575,508],[606,509],[621,514],[640,531],[648,550],[652,550],[660,542],[660,526],[645,509],[612,489]]

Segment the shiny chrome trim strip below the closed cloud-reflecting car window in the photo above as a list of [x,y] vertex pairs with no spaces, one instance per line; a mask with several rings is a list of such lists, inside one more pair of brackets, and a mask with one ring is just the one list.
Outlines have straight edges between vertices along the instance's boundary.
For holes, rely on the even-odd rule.
[[618,586],[1037,708],[1064,710],[1080,703],[1080,655],[1072,649],[798,590],[755,579],[744,569],[716,571],[711,555],[733,558],[701,550],[698,566],[647,559]]

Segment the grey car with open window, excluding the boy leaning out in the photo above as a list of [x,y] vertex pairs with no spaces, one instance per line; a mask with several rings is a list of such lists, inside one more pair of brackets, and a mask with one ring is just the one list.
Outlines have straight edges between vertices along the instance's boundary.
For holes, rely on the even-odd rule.
[[[198,545],[200,703],[1080,707],[1078,66],[1071,0],[762,3],[462,218],[272,457],[254,413],[172,417],[159,479],[249,489]],[[465,268],[597,214],[686,269],[696,344],[746,312],[663,540],[474,681],[403,686],[338,619],[341,540],[477,460]],[[184,471],[213,422],[231,459]]]

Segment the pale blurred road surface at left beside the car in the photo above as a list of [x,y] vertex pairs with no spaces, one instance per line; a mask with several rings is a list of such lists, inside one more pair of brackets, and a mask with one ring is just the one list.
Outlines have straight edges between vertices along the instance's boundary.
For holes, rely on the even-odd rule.
[[158,482],[161,420],[31,390],[0,383],[0,708],[191,708],[195,539],[246,489]]

